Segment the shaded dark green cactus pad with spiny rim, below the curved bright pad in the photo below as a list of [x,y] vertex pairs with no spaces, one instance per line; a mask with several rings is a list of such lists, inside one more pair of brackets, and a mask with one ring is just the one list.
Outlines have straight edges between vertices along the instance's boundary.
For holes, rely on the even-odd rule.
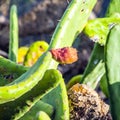
[[40,98],[58,86],[62,80],[63,78],[59,71],[46,71],[42,80],[40,80],[30,91],[23,94],[19,98],[14,99],[13,101],[0,104],[0,119],[20,119],[35,105],[36,102],[40,100]]

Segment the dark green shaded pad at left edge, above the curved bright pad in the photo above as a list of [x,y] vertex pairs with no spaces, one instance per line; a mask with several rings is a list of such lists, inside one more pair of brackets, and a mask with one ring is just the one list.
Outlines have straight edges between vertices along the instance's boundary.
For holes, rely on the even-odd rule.
[[28,67],[18,65],[17,63],[0,56],[0,86],[11,83],[27,70]]

